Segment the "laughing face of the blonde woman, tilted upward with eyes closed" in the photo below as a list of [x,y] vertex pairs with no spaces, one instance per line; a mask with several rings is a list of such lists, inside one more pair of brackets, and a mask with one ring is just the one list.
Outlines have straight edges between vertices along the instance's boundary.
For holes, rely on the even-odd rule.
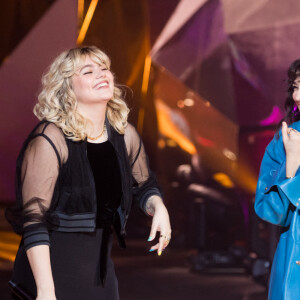
[[114,95],[114,77],[104,65],[86,55],[72,77],[72,87],[77,102],[94,104],[108,102]]

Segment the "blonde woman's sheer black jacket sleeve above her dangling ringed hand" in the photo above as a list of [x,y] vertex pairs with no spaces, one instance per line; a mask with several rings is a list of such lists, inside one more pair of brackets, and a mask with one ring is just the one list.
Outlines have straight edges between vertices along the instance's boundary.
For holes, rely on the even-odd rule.
[[155,175],[149,168],[142,139],[131,124],[128,124],[125,130],[125,143],[134,178],[133,196],[138,201],[139,207],[147,213],[148,199],[153,195],[161,197],[161,193]]

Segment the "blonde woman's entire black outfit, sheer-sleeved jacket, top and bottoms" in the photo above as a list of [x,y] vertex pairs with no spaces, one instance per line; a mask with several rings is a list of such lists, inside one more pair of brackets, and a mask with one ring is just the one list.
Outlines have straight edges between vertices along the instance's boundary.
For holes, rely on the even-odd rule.
[[25,250],[46,244],[58,300],[118,299],[110,259],[112,224],[124,246],[132,190],[141,208],[160,193],[135,129],[128,125],[121,135],[106,124],[103,144],[71,141],[54,124],[42,122],[23,146],[17,203],[7,217],[23,234],[13,281],[33,296]]

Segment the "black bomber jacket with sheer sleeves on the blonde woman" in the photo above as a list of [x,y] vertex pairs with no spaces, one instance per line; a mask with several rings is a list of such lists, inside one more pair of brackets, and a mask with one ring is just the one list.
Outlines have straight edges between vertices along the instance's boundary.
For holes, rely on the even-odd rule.
[[[113,210],[118,207],[116,222],[120,223],[119,234],[124,234],[126,221],[131,209],[132,199],[146,212],[149,197],[161,197],[155,176],[151,172],[144,145],[136,129],[128,124],[125,133],[119,134],[106,119],[108,133],[107,145],[90,145],[91,147],[110,147],[103,150],[114,157],[111,160],[89,163],[87,158],[87,143],[72,141],[54,123],[42,121],[25,140],[16,166],[16,203],[6,210],[6,218],[14,231],[23,235],[25,249],[37,245],[50,245],[49,230],[63,232],[91,232],[95,230],[97,201],[100,201],[98,212],[105,207],[103,199],[109,199],[107,210],[100,213],[98,219],[111,218]],[[89,147],[90,147],[89,146]],[[89,151],[92,153],[93,150]],[[101,150],[102,151],[102,150]],[[90,153],[90,154],[91,154]],[[117,156],[115,156],[117,155]],[[101,156],[101,155],[100,155]],[[105,155],[103,156],[105,157]],[[94,181],[102,181],[108,175],[97,175],[100,179],[93,180],[93,168],[98,163],[116,163],[120,166],[121,182],[116,179],[117,174],[111,173],[113,178],[101,187]],[[90,157],[91,160],[94,160]],[[102,159],[99,157],[99,159]],[[95,173],[100,169],[93,170]],[[108,169],[110,169],[107,166]],[[116,166],[112,167],[116,170]],[[114,171],[115,172],[115,171]],[[101,177],[102,176],[102,177]],[[117,182],[117,183],[116,183]],[[111,184],[113,188],[103,187]],[[122,196],[119,197],[119,186],[122,185]],[[108,191],[113,195],[106,198]],[[106,194],[101,194],[106,193]],[[110,195],[110,196],[111,196]],[[112,204],[112,206],[110,206]],[[108,213],[108,214],[107,214]],[[102,219],[101,219],[102,218]],[[99,222],[99,221],[98,221]],[[120,240],[119,240],[120,242]]]

